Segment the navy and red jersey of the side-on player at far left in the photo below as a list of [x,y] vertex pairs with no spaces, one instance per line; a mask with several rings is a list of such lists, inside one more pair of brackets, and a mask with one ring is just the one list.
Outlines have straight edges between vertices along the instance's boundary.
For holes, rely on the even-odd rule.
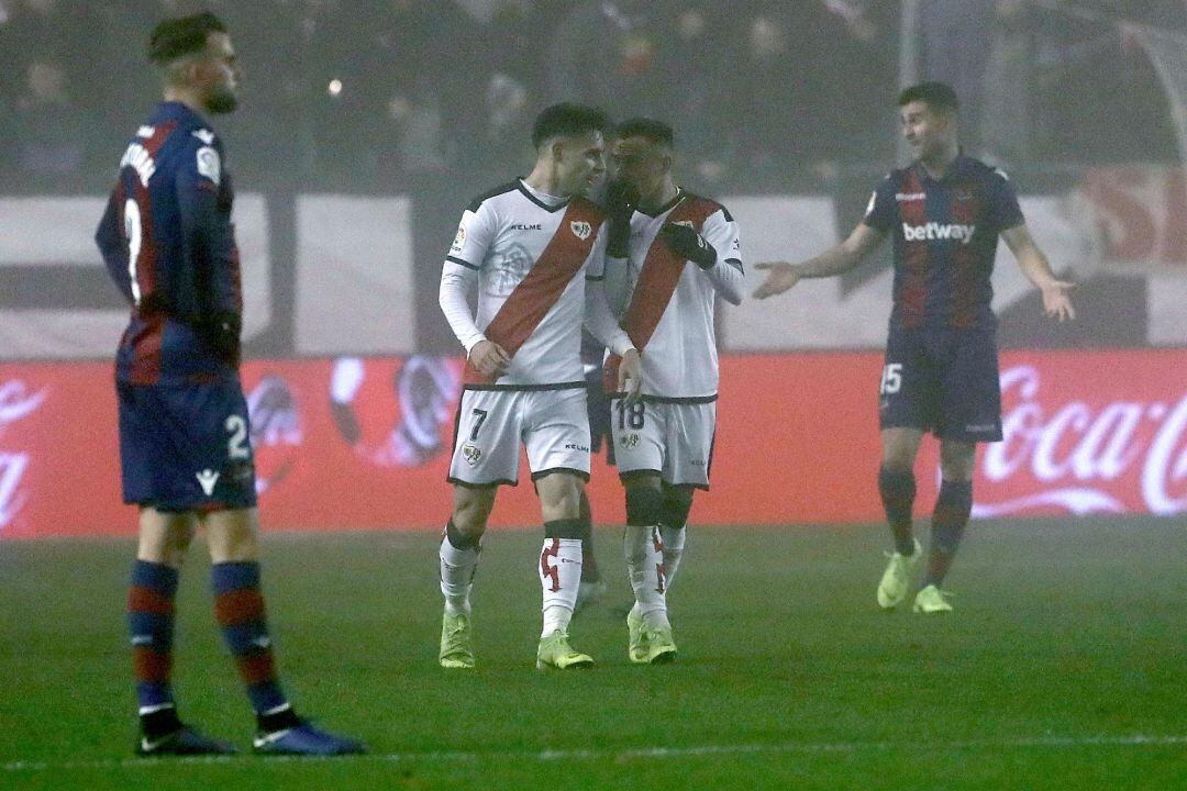
[[116,378],[184,384],[239,375],[236,349],[216,351],[214,323],[242,314],[234,191],[223,148],[205,120],[159,104],[120,161],[95,241],[132,304]]

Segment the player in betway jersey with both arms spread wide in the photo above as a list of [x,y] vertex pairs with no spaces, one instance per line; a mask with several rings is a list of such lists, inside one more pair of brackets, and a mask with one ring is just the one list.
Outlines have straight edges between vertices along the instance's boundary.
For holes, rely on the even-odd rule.
[[1042,293],[1047,315],[1075,313],[1047,256],[1035,244],[1013,184],[1001,170],[965,157],[951,87],[928,82],[899,95],[902,134],[915,161],[891,172],[870,197],[849,238],[800,264],[760,263],[767,280],[754,295],[773,296],[801,278],[830,278],[856,267],[894,237],[894,308],[880,387],[882,464],[878,490],[894,551],[877,588],[878,606],[901,604],[922,550],[914,537],[915,457],[925,432],[940,440],[941,484],[919,613],[951,612],[940,589],[972,510],[977,442],[1002,439],[1001,384],[990,275],[998,236]]

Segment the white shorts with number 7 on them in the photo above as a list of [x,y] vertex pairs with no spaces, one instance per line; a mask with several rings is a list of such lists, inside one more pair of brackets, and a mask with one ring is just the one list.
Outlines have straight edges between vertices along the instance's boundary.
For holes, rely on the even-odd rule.
[[519,483],[520,444],[532,480],[550,472],[590,477],[585,387],[553,390],[463,390],[453,429],[452,484]]

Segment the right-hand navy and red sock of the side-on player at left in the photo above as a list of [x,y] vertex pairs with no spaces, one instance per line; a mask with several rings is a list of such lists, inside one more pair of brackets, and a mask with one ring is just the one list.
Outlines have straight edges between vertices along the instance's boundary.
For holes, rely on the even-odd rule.
[[210,568],[210,581],[215,592],[215,617],[227,648],[235,657],[256,716],[291,713],[272,658],[272,640],[260,593],[260,564],[246,561],[215,563]]

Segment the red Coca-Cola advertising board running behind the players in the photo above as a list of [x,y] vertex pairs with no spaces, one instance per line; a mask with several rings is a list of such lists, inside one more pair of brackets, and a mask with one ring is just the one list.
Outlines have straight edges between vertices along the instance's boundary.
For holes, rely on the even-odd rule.
[[[722,359],[712,490],[698,524],[842,524],[882,518],[881,355]],[[449,516],[445,474],[459,361],[253,361],[260,509],[267,530],[430,529]],[[978,454],[975,516],[1187,511],[1187,350],[1009,352],[1003,442]],[[916,511],[934,503],[934,442]],[[532,527],[526,460],[495,527]],[[623,518],[612,468],[594,463],[596,521]],[[0,538],[133,535],[120,499],[112,368],[0,365]]]

